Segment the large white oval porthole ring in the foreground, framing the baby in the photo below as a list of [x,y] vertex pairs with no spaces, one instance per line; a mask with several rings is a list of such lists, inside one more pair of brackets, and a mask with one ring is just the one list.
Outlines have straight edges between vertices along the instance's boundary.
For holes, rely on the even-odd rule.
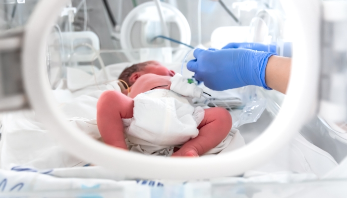
[[[21,49],[21,69],[25,95],[30,107],[35,109],[37,118],[44,123],[49,131],[55,134],[64,148],[85,161],[104,166],[119,175],[127,177],[206,179],[236,176],[256,167],[258,164],[266,162],[276,154],[278,150],[289,143],[292,136],[306,121],[312,118],[316,111],[320,71],[319,57],[321,56],[320,25],[322,2],[319,0],[284,0],[282,1],[283,8],[287,16],[295,23],[295,31],[292,31],[293,58],[290,84],[281,111],[265,132],[256,140],[245,147],[231,152],[199,158],[147,156],[106,146],[92,139],[80,129],[66,124],[62,112],[57,107],[57,100],[52,93],[52,86],[47,78],[45,51],[50,33],[57,22],[57,16],[63,13],[63,9],[67,12],[68,17],[70,17],[69,12],[76,11],[72,7],[66,7],[68,2],[68,0],[42,0],[38,2],[23,29],[22,37],[8,38],[1,42],[8,42],[12,45],[10,47]],[[152,4],[154,5],[154,2]],[[141,9],[141,5],[136,9]],[[142,17],[149,15],[149,13],[146,15],[145,11],[143,13],[137,12],[137,14],[138,17],[140,14],[143,14]],[[176,16],[176,19],[172,20],[179,20],[181,17],[175,13],[173,13],[173,16]],[[125,26],[134,23],[131,20],[135,19],[130,18],[129,21],[126,20],[126,24],[123,24],[121,29],[122,31],[128,31],[129,33],[127,34],[130,35],[129,28]],[[182,32],[182,35],[186,35],[187,31],[189,35],[190,30],[187,30],[189,28],[186,27],[188,25],[187,22],[183,21],[178,24],[182,24],[180,29],[183,28],[185,31]],[[146,25],[151,26],[151,24]],[[259,27],[256,28],[259,29]],[[73,32],[63,32],[63,34],[62,38],[73,36]],[[123,39],[122,37],[120,36],[120,39]],[[146,41],[146,39],[144,40]],[[188,43],[190,40],[190,38],[184,37],[180,37],[180,39],[182,39],[183,43]],[[128,49],[127,45],[129,43],[123,40],[121,43],[122,47],[126,46],[125,49]],[[89,42],[91,46],[94,43],[94,41]],[[15,46],[16,44],[22,44],[22,47]],[[158,51],[158,53],[160,52]],[[131,56],[130,53],[126,55]],[[83,58],[82,55],[78,57]],[[87,60],[84,61],[86,62]],[[140,167],[138,166],[139,164],[141,164]]]

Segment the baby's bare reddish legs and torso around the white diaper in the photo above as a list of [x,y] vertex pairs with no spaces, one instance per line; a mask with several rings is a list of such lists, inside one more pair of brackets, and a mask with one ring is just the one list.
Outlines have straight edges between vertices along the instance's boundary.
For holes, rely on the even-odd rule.
[[[116,148],[127,149],[121,119],[133,117],[133,98],[157,86],[168,85],[157,89],[170,90],[170,78],[171,75],[159,76],[145,73],[141,74],[131,86],[129,97],[116,91],[104,92],[97,104],[98,128],[104,142]],[[205,109],[205,117],[197,127],[199,135],[186,142],[172,156],[199,156],[204,154],[211,148],[215,148],[227,137],[231,125],[231,115],[226,109],[220,107]]]

